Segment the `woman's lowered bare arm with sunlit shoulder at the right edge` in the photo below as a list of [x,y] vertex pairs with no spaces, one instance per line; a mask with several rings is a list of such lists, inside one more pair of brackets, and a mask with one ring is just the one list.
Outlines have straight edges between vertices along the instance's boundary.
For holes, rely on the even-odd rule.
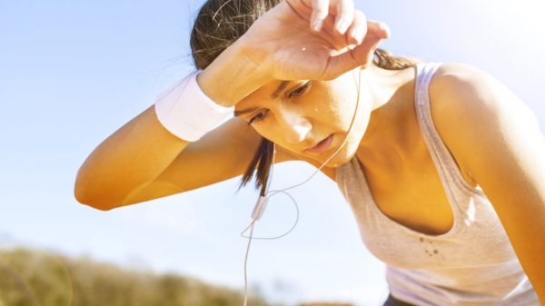
[[441,138],[487,195],[530,281],[545,292],[545,138],[530,108],[488,74],[446,65],[431,87]]

